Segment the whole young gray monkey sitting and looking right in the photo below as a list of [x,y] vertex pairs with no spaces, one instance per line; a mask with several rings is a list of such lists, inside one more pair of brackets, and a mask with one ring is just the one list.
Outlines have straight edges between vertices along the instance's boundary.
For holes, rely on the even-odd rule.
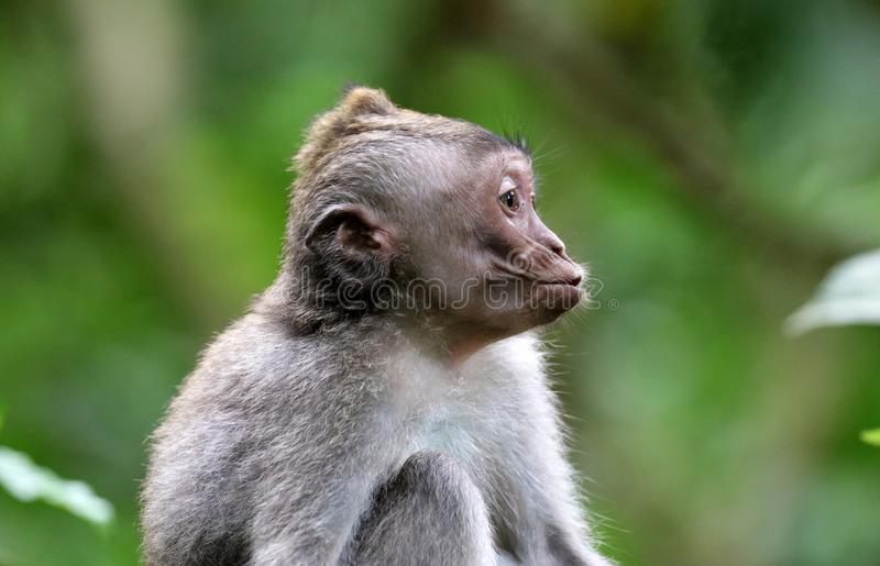
[[538,335],[585,269],[525,145],[354,87],[294,163],[276,279],[152,436],[144,562],[610,565]]

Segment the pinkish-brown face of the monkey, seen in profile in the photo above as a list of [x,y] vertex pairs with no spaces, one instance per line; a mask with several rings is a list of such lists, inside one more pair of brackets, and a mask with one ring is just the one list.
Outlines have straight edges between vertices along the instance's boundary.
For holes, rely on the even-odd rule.
[[494,152],[463,181],[450,191],[442,219],[455,229],[432,254],[448,263],[447,317],[504,335],[574,308],[584,273],[535,210],[529,157],[517,148]]

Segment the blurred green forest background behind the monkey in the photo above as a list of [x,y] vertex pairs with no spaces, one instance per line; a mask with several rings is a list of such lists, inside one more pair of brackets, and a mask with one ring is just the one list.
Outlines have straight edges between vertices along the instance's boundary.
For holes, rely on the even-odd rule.
[[0,3],[0,564],[138,563],[144,439],[272,279],[288,157],[346,81],[529,138],[596,307],[551,332],[625,566],[880,564],[880,329],[782,332],[880,244],[880,2]]

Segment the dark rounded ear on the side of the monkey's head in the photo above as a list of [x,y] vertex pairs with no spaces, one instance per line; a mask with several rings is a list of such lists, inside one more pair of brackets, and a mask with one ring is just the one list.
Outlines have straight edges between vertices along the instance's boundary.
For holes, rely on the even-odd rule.
[[306,247],[315,252],[329,237],[353,255],[389,256],[394,248],[391,233],[361,204],[330,207],[306,234]]

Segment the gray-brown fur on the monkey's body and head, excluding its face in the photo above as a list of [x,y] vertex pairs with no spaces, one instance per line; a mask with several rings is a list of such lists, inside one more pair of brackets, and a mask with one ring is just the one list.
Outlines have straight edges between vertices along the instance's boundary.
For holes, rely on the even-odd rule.
[[[316,122],[280,275],[202,353],[154,434],[148,565],[608,564],[588,544],[531,332],[451,365],[432,347],[441,314],[343,309],[332,295],[428,264],[454,279],[406,226],[444,222],[420,207],[463,182],[450,163],[499,144],[369,89]],[[332,231],[305,245],[341,202],[370,207],[394,254],[353,256]]]

